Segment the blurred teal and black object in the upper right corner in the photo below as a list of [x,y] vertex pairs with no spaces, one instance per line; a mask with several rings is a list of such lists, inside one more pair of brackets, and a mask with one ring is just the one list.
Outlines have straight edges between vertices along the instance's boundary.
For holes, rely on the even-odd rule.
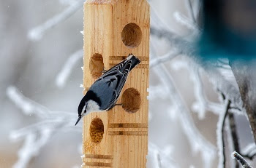
[[203,0],[202,14],[197,44],[203,59],[256,57],[256,1]]

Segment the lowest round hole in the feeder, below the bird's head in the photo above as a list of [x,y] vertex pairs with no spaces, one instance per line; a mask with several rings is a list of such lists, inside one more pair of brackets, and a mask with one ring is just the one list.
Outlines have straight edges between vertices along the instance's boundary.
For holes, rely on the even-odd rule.
[[101,119],[95,118],[91,121],[90,125],[90,137],[94,143],[100,143],[104,134],[104,125]]

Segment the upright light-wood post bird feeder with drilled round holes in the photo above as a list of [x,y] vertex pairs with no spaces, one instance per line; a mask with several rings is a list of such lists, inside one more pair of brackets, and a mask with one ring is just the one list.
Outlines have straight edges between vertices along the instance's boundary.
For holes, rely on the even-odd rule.
[[140,58],[118,104],[90,113],[83,124],[83,167],[146,167],[148,153],[149,5],[146,0],[87,0],[84,4],[85,92],[129,53]]

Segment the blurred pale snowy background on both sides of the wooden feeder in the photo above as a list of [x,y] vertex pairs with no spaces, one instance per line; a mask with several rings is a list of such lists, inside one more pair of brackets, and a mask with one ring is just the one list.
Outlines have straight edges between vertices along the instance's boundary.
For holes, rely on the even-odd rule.
[[[197,17],[200,3],[191,2],[192,12],[187,0],[151,0],[152,28],[196,36],[192,15]],[[0,167],[82,164],[82,122],[74,127],[83,97],[80,31],[83,1],[0,1]],[[218,167],[222,158],[217,125],[227,101],[217,90],[230,84],[236,94],[236,81],[226,60],[211,71],[186,53],[151,36],[147,167]],[[244,112],[234,113],[246,149],[253,143],[251,129]],[[225,131],[231,167],[233,149]]]

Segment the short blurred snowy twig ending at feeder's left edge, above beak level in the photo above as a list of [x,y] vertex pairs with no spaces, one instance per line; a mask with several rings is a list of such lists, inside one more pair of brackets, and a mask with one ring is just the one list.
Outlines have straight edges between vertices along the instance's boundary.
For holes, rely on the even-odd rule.
[[67,82],[67,79],[72,71],[72,68],[78,62],[78,60],[83,58],[83,49],[78,50],[77,52],[73,53],[66,63],[64,64],[63,68],[59,72],[58,76],[56,77],[55,84],[59,88],[63,88]]

